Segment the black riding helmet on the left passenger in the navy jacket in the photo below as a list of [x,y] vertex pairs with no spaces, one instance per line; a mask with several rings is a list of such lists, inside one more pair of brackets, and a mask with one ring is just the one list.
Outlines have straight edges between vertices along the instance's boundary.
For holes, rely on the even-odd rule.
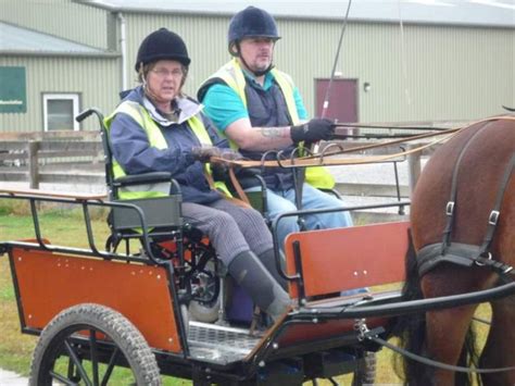
[[135,69],[138,72],[141,65],[162,59],[176,60],[185,67],[191,62],[183,38],[166,28],[154,30],[141,41]]

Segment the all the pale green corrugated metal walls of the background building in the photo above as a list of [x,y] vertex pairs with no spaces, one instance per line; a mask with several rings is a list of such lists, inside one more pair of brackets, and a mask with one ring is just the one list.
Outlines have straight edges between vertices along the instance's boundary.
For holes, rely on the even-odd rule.
[[[105,47],[105,21],[114,21],[106,11],[65,0],[0,4],[2,13],[15,15],[12,22],[97,47]],[[139,43],[162,26],[188,45],[192,64],[186,91],[191,96],[229,59],[228,16],[124,16],[129,87],[136,84]],[[292,75],[313,114],[314,79],[330,75],[341,22],[278,18],[278,27],[282,39],[275,63]],[[26,65],[28,98],[26,114],[0,114],[0,130],[40,130],[41,91],[79,91],[83,108],[97,105],[105,113],[117,102],[121,69],[115,59],[0,57],[0,65]],[[473,120],[500,113],[501,104],[515,105],[514,69],[515,28],[404,25],[402,40],[399,25],[357,22],[347,27],[337,66],[343,77],[359,79],[361,122]],[[369,92],[363,92],[365,82]]]

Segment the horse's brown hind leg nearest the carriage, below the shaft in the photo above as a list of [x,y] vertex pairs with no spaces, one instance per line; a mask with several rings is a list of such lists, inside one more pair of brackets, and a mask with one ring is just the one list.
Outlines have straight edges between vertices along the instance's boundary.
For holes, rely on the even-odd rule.
[[[426,314],[426,345],[430,358],[447,364],[457,364],[476,308],[466,306]],[[435,369],[434,384],[454,385],[454,372]]]

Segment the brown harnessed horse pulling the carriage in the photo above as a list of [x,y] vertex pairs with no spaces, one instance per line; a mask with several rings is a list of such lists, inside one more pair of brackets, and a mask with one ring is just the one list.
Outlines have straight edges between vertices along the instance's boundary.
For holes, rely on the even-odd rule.
[[[412,199],[411,222],[416,257],[412,254],[406,263],[406,299],[482,290],[515,278],[512,273],[502,273],[507,266],[515,265],[514,157],[515,116],[485,120],[465,127],[434,153]],[[495,202],[499,202],[497,207]],[[491,213],[495,208],[499,216]],[[489,221],[494,222],[497,217],[497,226],[489,225]],[[489,229],[493,239],[485,242]],[[483,257],[491,257],[492,261],[505,265],[497,264],[495,269],[469,259],[461,260],[461,264],[460,259],[457,264],[453,260],[453,256],[467,254],[463,249],[475,256],[481,246],[490,253],[483,253]],[[444,258],[424,260],[428,250]],[[424,261],[426,265],[422,264]],[[469,264],[463,264],[464,261]],[[490,303],[491,326],[486,347],[475,365],[515,366],[515,296]],[[474,350],[467,349],[472,348],[470,326],[476,308],[477,304],[462,306],[430,311],[419,317],[403,317],[403,327],[410,324],[410,328],[400,334],[401,343],[404,348],[432,360],[469,366],[474,362],[474,356],[470,357]],[[404,373],[410,386],[466,385],[472,382],[467,374],[411,360],[404,363]],[[515,370],[481,374],[481,378],[485,385],[515,385]]]

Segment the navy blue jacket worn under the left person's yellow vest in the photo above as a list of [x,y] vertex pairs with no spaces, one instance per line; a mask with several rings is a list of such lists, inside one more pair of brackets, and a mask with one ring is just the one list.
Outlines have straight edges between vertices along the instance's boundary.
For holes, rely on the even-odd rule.
[[138,123],[127,114],[116,114],[110,128],[111,148],[125,173],[169,172],[180,185],[185,202],[209,203],[221,199],[222,195],[210,188],[203,164],[193,160],[191,149],[201,144],[186,121],[193,115],[200,116],[214,146],[228,149],[229,144],[218,136],[211,120],[201,113],[201,104],[189,98],[177,98],[180,115],[178,123],[172,123],[145,97],[141,86],[131,90],[124,100],[137,102],[149,111],[168,146],[163,150],[151,147]]

